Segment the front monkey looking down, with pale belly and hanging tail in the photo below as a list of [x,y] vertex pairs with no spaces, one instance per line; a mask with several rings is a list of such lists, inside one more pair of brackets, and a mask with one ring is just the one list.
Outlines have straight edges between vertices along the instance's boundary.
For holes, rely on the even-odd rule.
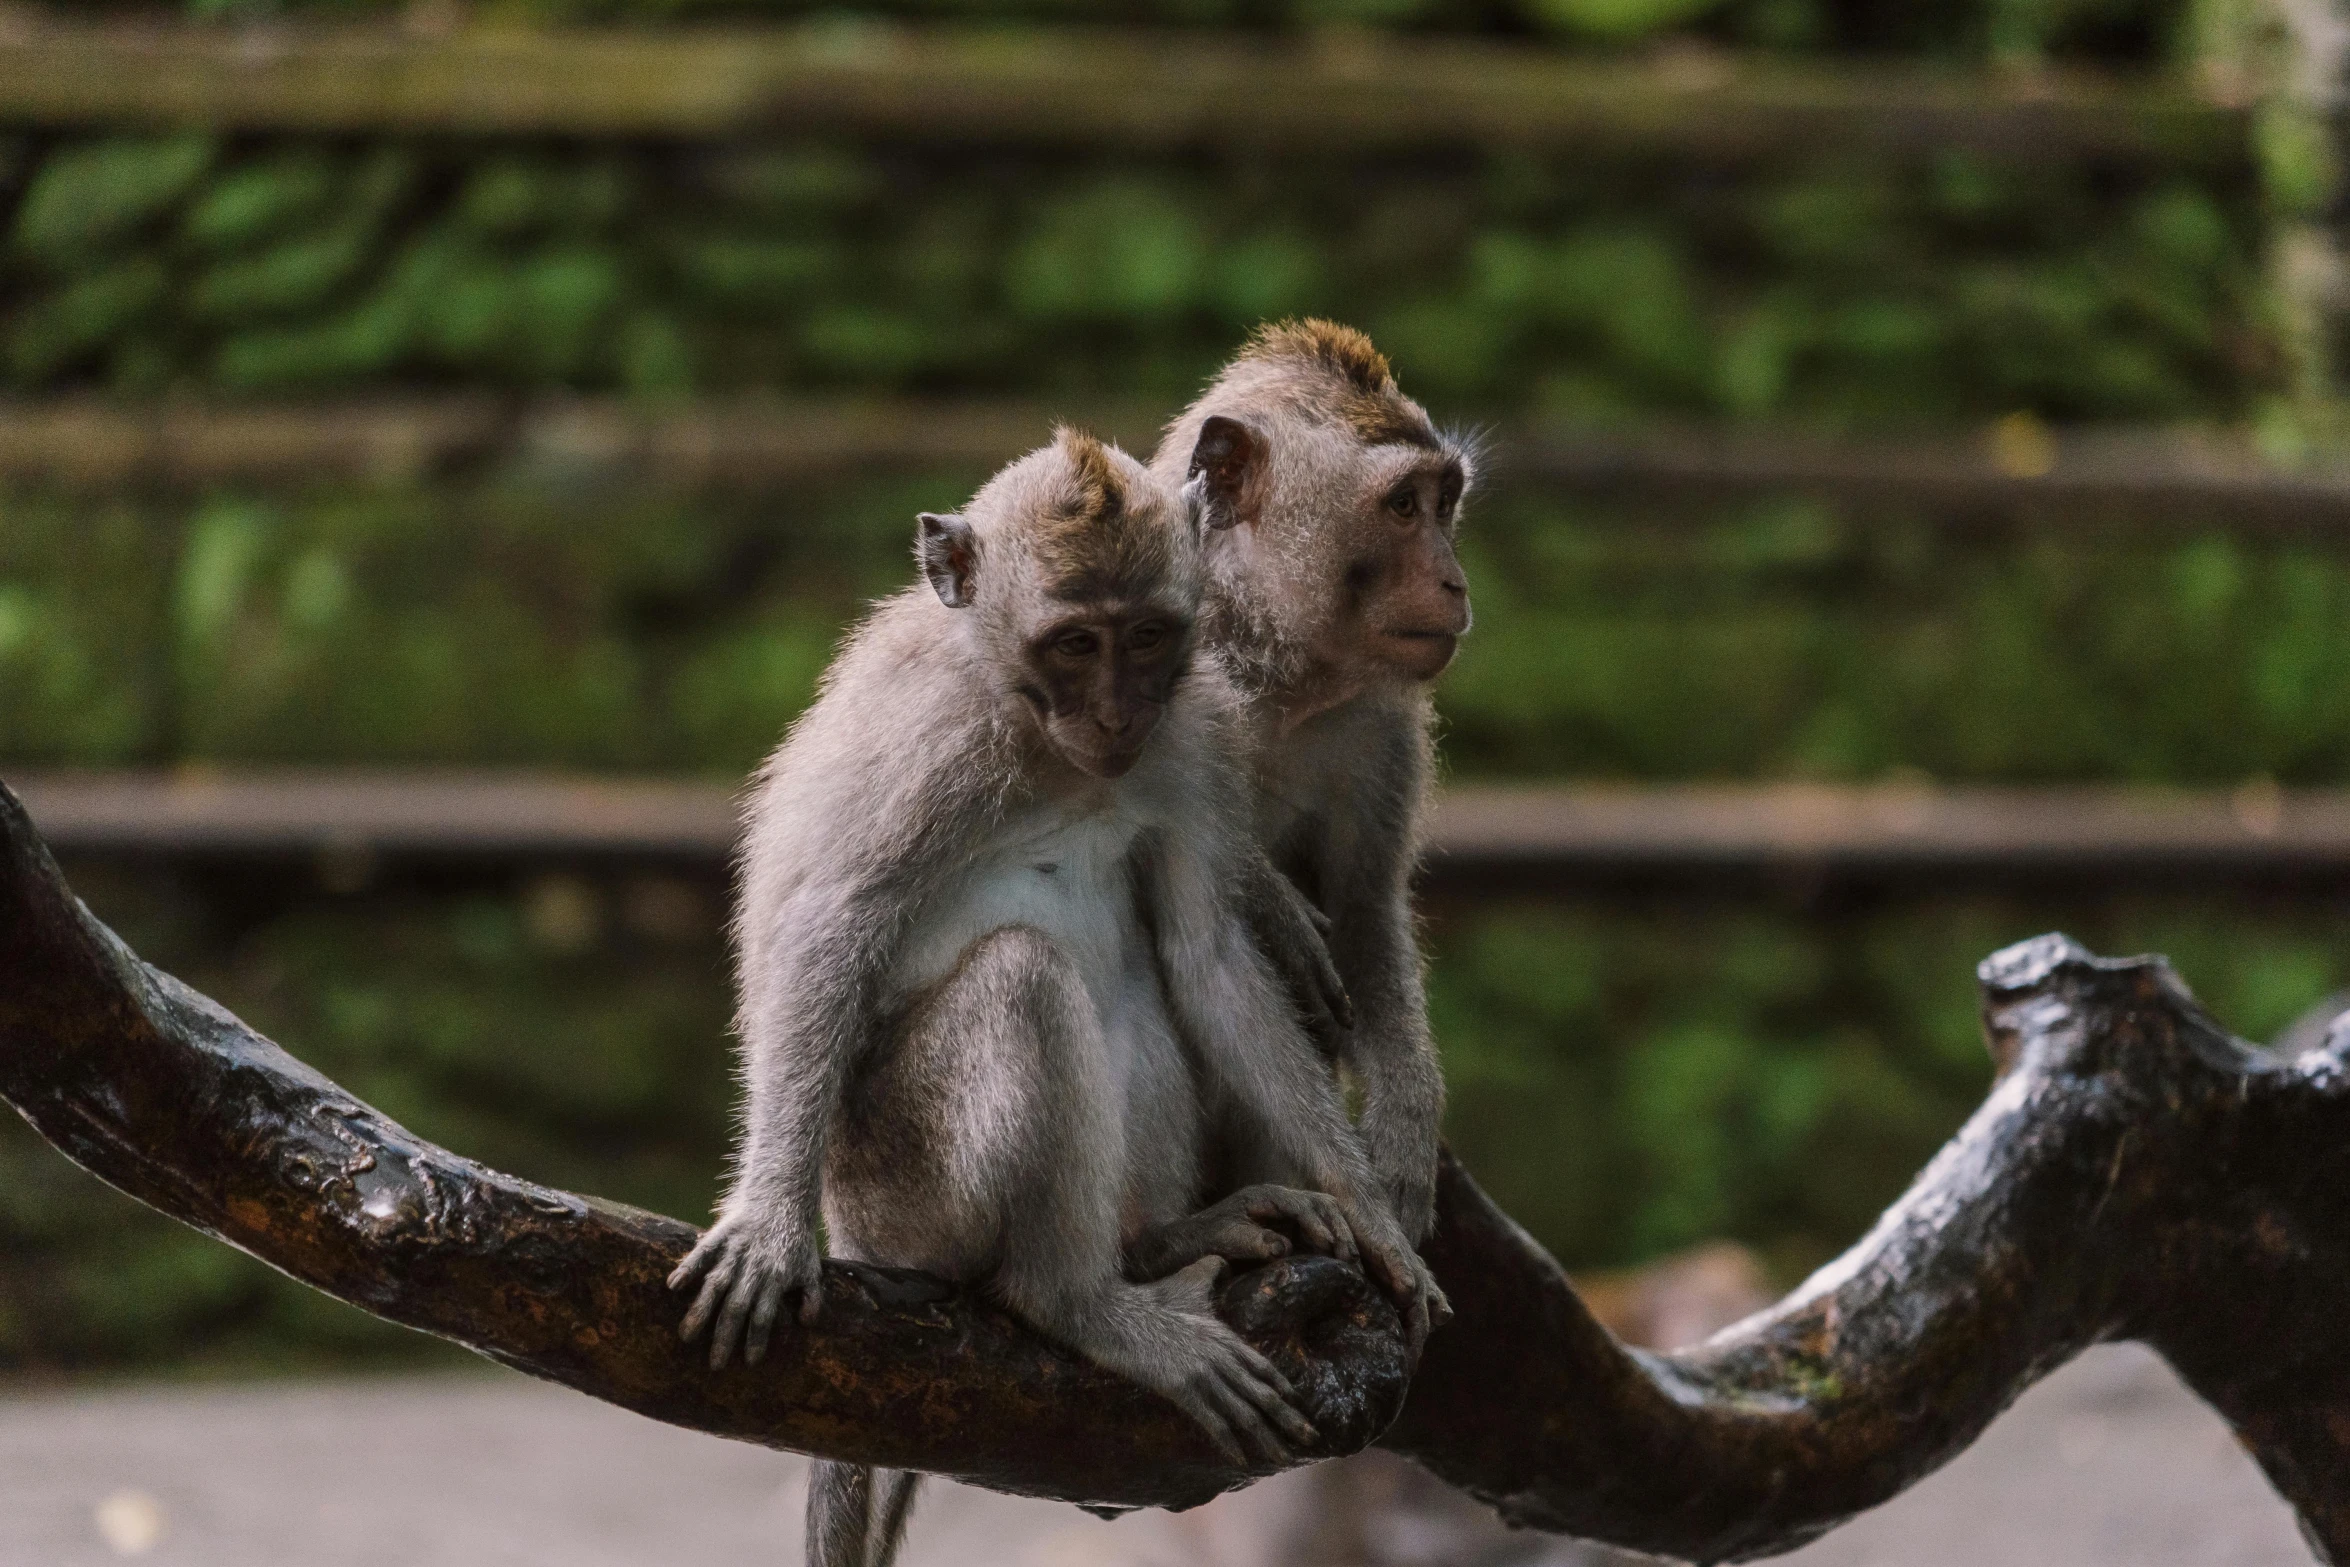
[[[1283,1461],[1314,1431],[1215,1318],[1215,1226],[1182,1224],[1210,1144],[1260,1182],[1227,1217],[1434,1292],[1234,890],[1262,850],[1236,702],[1194,655],[1201,526],[1198,489],[1062,430],[921,517],[926,585],[766,764],[736,919],[750,1107],[670,1280],[714,1367],[759,1360],[785,1306],[815,1318],[820,1212],[837,1255],[975,1283],[1234,1461]],[[912,1480],[818,1464],[811,1562],[886,1562]]]

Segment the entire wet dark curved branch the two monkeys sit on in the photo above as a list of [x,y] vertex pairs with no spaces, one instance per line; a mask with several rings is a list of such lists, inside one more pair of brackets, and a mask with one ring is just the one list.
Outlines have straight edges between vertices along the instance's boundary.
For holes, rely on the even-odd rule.
[[[1701,1349],[1617,1344],[1450,1161],[1429,1262],[1459,1316],[1417,1379],[1394,1311],[1335,1262],[1246,1273],[1224,1311],[1302,1384],[1328,1452],[1384,1431],[1516,1522],[1699,1562],[1814,1539],[2087,1344],[2136,1337],[2350,1562],[2350,1029],[2277,1060],[2160,959],[2054,935],[1981,980],[1986,1104],[1852,1252]],[[5,787],[0,1097],[294,1278],[656,1419],[1097,1508],[1255,1478],[916,1273],[827,1264],[818,1327],[712,1374],[663,1287],[691,1226],[496,1175],[360,1104],[122,947]]]

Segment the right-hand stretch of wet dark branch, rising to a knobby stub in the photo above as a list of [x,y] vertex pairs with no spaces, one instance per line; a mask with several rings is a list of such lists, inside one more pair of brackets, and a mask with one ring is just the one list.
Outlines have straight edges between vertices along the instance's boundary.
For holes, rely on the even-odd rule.
[[1626,1351],[1459,1168],[1459,1311],[1384,1438],[1544,1529],[1701,1562],[1791,1551],[2146,1339],[2350,1562],[2350,1029],[2282,1062],[2160,959],[2061,935],[1981,966],[2000,1081],[1845,1257],[1706,1346]]

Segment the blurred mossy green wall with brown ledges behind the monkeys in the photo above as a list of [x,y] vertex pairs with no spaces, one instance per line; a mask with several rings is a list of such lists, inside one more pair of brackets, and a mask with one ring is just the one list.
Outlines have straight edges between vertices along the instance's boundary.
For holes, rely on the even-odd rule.
[[[728,792],[942,507],[1257,322],[1492,435],[1450,1137],[1847,1245],[1972,966],[2350,984],[2324,0],[0,5],[0,775],[418,1132],[703,1217]],[[1760,1285],[1758,1285],[1760,1287]],[[451,1365],[0,1125],[0,1372]],[[489,1558],[482,1558],[489,1560]]]

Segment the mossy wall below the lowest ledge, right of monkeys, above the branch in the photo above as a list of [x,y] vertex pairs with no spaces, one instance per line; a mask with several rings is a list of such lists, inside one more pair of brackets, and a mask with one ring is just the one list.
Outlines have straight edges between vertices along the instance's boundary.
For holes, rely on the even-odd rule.
[[1459,909],[1429,977],[1448,1130],[1570,1266],[1739,1236],[1793,1278],[1981,1102],[1974,959],[2047,928],[2167,951],[2230,1029],[2270,1038],[2350,980],[2341,914],[2225,895]]

